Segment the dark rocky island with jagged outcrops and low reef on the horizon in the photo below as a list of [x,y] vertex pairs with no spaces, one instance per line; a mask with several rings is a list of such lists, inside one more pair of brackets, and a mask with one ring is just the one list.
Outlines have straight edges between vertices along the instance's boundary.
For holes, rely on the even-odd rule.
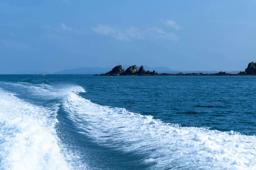
[[161,73],[158,74],[154,71],[145,70],[143,66],[140,68],[136,65],[132,65],[128,67],[126,70],[122,69],[122,65],[115,66],[111,71],[105,74],[95,74],[94,76],[256,76],[256,63],[251,62],[248,64],[245,71],[241,71],[240,73],[226,73],[219,72],[214,74],[203,74],[203,73],[177,73],[177,74],[168,74]]

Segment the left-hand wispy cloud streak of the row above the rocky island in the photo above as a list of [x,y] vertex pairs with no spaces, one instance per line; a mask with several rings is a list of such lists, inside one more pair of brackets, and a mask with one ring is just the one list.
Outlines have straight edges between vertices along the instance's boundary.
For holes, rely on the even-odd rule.
[[91,29],[93,31],[95,31],[96,33],[103,34],[103,35],[109,35],[117,40],[124,40],[124,41],[130,40],[130,38],[128,36],[126,36],[123,32],[121,32],[117,29],[114,29],[110,26],[104,26],[104,25],[99,24],[98,27],[91,27]]

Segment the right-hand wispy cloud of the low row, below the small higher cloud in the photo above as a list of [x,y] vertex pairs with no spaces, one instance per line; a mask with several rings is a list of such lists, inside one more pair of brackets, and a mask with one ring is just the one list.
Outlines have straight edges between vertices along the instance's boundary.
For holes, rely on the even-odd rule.
[[167,33],[162,29],[156,28],[156,27],[147,28],[147,33],[148,35],[152,36],[155,39],[166,39],[166,40],[174,40],[174,41],[179,40],[178,35],[173,33]]

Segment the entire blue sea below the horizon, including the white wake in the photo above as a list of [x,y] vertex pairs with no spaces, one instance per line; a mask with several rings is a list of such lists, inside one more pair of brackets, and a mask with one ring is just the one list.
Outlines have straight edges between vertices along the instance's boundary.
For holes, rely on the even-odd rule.
[[255,82],[0,75],[0,169],[256,169]]

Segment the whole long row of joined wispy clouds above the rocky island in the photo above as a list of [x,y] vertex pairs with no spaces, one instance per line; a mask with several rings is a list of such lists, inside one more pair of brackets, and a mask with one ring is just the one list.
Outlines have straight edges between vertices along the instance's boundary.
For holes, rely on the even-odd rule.
[[99,24],[98,27],[92,27],[92,30],[96,33],[112,36],[117,40],[124,40],[124,41],[130,41],[131,39],[143,40],[150,37],[154,39],[165,39],[165,40],[174,40],[174,41],[179,40],[178,35],[173,34],[171,32],[167,33],[157,27],[140,30],[138,28],[130,26],[129,28],[126,29],[126,31],[123,32],[118,29],[113,29],[110,26],[103,26]]

